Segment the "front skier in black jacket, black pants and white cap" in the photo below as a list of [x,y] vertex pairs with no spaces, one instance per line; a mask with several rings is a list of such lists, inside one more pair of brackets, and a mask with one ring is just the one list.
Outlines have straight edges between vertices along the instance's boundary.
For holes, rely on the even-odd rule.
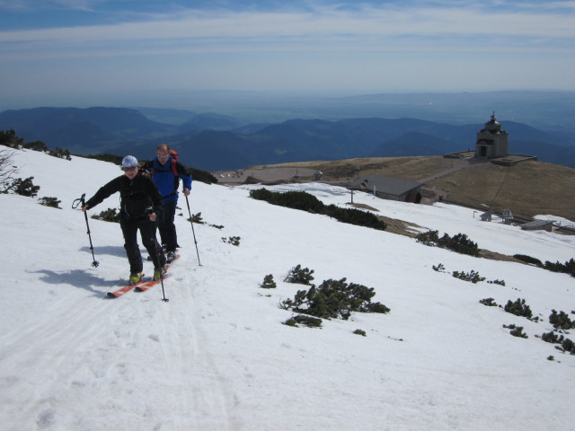
[[139,229],[142,243],[154,262],[154,278],[164,275],[165,256],[155,239],[156,220],[162,211],[160,192],[154,181],[138,172],[137,159],[127,155],[122,160],[124,175],[114,178],[89,198],[82,211],[100,204],[105,198],[119,191],[119,225],[124,234],[124,248],[129,261],[129,282],[137,283],[142,277],[143,263],[137,245]]

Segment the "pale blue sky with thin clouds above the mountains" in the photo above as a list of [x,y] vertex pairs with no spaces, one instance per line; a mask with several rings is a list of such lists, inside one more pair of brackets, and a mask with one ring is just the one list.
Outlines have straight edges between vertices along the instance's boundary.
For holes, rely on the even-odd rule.
[[21,104],[575,90],[574,76],[575,1],[0,0],[1,92]]

